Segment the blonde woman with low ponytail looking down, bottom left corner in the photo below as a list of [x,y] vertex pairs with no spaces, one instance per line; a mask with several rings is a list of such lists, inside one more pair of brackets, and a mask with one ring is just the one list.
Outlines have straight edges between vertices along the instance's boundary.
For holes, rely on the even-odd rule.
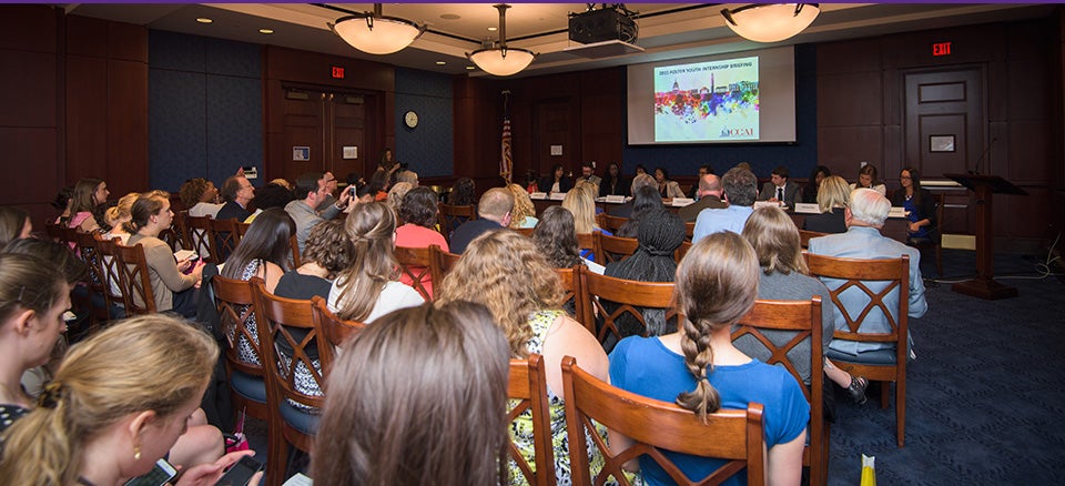
[[[162,314],[119,322],[73,346],[40,406],[2,436],[0,477],[114,485],[148,474],[196,413],[217,356],[211,336]],[[214,484],[245,455],[186,467],[178,485]]]

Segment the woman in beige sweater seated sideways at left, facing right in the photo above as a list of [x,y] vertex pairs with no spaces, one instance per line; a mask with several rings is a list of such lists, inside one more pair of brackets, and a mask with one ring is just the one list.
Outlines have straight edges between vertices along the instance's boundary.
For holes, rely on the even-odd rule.
[[[191,261],[174,261],[174,254],[159,233],[170,227],[174,213],[170,200],[158,192],[141,194],[131,210],[131,227],[136,233],[130,236],[129,246],[141,244],[148,261],[152,295],[156,312],[173,311],[185,317],[196,314],[196,288],[203,265]],[[192,269],[190,273],[186,270]]]

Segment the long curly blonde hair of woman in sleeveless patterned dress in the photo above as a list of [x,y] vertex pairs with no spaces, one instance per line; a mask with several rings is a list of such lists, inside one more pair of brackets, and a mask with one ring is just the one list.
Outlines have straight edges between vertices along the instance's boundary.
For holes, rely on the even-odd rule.
[[562,305],[558,274],[531,239],[511,230],[490,231],[470,242],[437,292],[436,305],[467,301],[488,307],[516,358],[529,355],[532,313]]

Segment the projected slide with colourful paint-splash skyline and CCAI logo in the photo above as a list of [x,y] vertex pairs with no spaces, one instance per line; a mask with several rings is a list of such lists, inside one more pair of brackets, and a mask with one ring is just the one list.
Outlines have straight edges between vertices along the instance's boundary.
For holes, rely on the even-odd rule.
[[758,58],[655,69],[655,141],[758,140]]

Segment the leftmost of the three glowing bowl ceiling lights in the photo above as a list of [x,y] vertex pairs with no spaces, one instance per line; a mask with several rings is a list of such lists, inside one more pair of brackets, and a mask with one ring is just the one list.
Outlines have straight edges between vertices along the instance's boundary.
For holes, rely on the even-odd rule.
[[390,54],[410,45],[425,32],[425,24],[381,14],[381,3],[373,12],[355,13],[329,23],[344,42],[368,54]]

